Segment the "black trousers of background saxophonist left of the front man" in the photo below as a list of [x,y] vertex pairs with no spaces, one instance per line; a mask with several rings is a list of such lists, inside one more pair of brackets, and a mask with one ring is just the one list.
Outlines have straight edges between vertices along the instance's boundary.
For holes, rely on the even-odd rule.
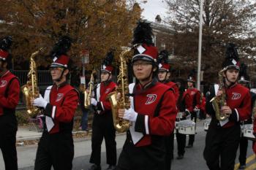
[[113,117],[106,115],[94,115],[91,136],[90,163],[100,165],[100,153],[103,138],[105,139],[107,163],[116,165],[116,130],[113,126]]

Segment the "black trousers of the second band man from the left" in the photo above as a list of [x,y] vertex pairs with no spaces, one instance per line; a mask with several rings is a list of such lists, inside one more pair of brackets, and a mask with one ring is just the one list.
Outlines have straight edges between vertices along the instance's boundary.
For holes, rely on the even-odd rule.
[[74,143],[71,132],[48,134],[45,132],[38,143],[35,170],[72,170]]

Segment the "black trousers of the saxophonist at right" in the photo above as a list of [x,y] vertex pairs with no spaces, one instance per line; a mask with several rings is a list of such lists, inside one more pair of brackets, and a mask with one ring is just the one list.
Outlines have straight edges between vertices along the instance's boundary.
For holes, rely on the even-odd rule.
[[209,125],[203,157],[210,170],[233,170],[241,129],[236,124],[229,128]]

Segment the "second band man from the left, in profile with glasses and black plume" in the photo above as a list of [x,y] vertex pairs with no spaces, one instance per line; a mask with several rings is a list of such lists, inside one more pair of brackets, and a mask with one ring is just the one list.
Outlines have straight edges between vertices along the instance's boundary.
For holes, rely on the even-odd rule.
[[43,108],[44,129],[39,140],[35,170],[72,169],[74,144],[73,117],[78,106],[78,91],[67,83],[71,59],[67,51],[71,39],[62,36],[51,53],[50,74],[53,85],[45,90],[45,98],[34,99],[34,106]]

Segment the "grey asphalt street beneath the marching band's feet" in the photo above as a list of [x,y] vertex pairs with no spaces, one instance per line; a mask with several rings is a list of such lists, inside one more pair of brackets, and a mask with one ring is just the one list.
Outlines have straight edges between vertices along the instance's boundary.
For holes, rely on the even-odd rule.
[[[188,137],[188,136],[187,136]],[[172,162],[172,170],[206,170],[206,162],[203,160],[203,148],[205,146],[206,131],[203,131],[203,120],[197,123],[197,134],[195,136],[195,144],[192,148],[186,148],[184,159],[177,160],[177,144],[176,140],[174,143],[174,159]],[[117,152],[118,155],[121,152],[121,147],[124,144],[125,135],[117,135]],[[187,140],[188,141],[188,140]],[[20,170],[34,169],[34,159],[37,151],[37,145],[21,146],[18,147],[18,166]],[[75,141],[75,158],[73,161],[74,170],[87,170],[91,166],[89,163],[91,154],[91,140],[90,139],[79,139]],[[252,142],[249,142],[248,146],[248,162],[251,164],[255,163],[255,156],[252,152]],[[238,157],[238,156],[237,156]],[[105,143],[102,143],[102,169],[106,169],[105,158]],[[236,163],[238,161],[236,160]],[[255,163],[256,165],[256,163]],[[254,167],[254,166],[253,166]],[[236,164],[236,168],[238,164]],[[254,169],[254,168],[251,168]],[[255,168],[256,169],[256,168]],[[4,170],[4,163],[0,154],[0,170]]]

